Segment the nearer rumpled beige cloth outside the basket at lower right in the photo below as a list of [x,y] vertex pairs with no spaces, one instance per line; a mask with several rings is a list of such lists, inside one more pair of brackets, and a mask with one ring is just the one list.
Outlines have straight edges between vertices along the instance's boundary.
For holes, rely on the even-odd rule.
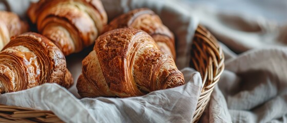
[[225,69],[202,122],[287,122],[287,48],[248,51]]

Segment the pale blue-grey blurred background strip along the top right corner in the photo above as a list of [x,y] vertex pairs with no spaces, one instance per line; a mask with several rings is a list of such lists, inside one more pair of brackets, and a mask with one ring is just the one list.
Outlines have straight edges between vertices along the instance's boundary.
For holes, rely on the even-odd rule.
[[223,13],[263,17],[278,24],[287,23],[287,1],[285,0],[182,0],[182,2],[187,3],[190,8],[216,9]]

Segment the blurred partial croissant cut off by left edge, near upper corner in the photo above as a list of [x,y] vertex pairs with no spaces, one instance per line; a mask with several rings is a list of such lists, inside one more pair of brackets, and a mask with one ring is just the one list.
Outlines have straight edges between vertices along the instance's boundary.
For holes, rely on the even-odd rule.
[[10,41],[10,37],[28,31],[28,24],[12,12],[0,11],[0,50]]

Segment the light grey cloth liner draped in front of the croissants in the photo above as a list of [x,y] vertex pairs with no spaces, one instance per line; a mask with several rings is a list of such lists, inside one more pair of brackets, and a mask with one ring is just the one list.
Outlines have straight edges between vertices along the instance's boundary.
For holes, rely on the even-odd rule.
[[182,70],[184,86],[130,98],[77,99],[57,84],[0,96],[0,104],[50,110],[65,122],[191,122],[202,89],[198,72]]

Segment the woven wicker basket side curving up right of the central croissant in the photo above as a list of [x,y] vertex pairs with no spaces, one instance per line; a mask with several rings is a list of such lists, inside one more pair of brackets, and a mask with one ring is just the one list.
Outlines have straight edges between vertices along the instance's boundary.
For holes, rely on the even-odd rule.
[[224,54],[217,39],[199,25],[193,38],[190,67],[200,72],[203,88],[192,122],[198,122],[224,70]]

